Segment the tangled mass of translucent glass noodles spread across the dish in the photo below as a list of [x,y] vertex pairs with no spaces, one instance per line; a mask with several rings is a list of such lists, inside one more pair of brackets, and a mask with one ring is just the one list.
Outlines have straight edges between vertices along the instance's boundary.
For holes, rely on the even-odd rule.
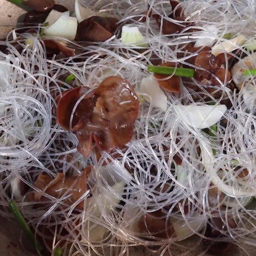
[[[15,200],[40,243],[52,252],[61,247],[64,256],[107,252],[129,255],[134,253],[135,245],[146,246],[146,255],[203,255],[211,245],[203,246],[203,240],[225,240],[250,255],[246,244],[256,245],[256,105],[248,109],[241,92],[220,81],[209,86],[220,94],[215,99],[196,79],[180,80],[180,94],[165,91],[166,112],[141,100],[127,148],[117,148],[111,154],[103,152],[100,160],[95,148],[88,158],[80,155],[76,136],[56,123],[56,97],[71,88],[63,82],[63,76],[74,74],[74,84],[90,88],[108,76],[120,76],[141,98],[139,85],[149,75],[147,68],[152,58],[195,68],[187,62],[191,55],[183,54],[184,47],[198,38],[204,39],[204,34],[191,33],[190,27],[170,37],[161,34],[161,27],[159,30],[152,18],[143,23],[136,21],[148,4],[149,10],[173,21],[167,17],[172,12],[169,1],[84,2],[92,9],[117,16],[120,23],[131,19],[149,47],[122,44],[121,32],[104,43],[89,46],[55,37],[82,52],[56,60],[46,58],[39,28],[38,36],[17,33],[16,43],[21,51],[13,46],[12,32],[9,33],[1,42],[9,54],[0,52],[0,214],[12,217],[8,204]],[[254,0],[184,1],[179,6],[193,28],[216,26],[219,32],[215,41],[227,33],[243,33],[248,41],[254,39]],[[32,44],[25,42],[27,38]],[[241,46],[232,54],[239,60],[250,52]],[[230,102],[230,107],[218,121],[214,136],[183,122],[174,107],[219,104],[223,100]],[[88,190],[76,204],[65,203],[69,191],[60,198],[45,194],[42,202],[36,202],[37,207],[27,196],[14,196],[20,181],[26,191],[33,191],[39,174],[53,178],[58,172],[79,176],[87,166],[92,166]],[[246,178],[239,179],[234,166],[246,169]],[[80,202],[84,204],[83,211],[76,209]],[[154,237],[138,229],[143,216],[160,209],[166,227],[167,219],[171,220],[176,236]],[[226,228],[220,229],[215,218],[222,219]],[[206,238],[209,226],[223,236]],[[192,235],[192,240],[183,241]],[[21,237],[21,243],[22,240]]]

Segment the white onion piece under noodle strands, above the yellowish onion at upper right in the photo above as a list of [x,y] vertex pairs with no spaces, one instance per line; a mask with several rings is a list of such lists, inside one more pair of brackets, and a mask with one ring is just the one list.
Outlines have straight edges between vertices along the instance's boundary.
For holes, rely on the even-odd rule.
[[205,26],[203,28],[205,30],[199,31],[193,34],[193,36],[202,37],[196,40],[194,47],[201,47],[201,46],[211,47],[213,42],[216,40],[216,36],[219,31],[219,29],[216,26],[210,25],[210,26]]

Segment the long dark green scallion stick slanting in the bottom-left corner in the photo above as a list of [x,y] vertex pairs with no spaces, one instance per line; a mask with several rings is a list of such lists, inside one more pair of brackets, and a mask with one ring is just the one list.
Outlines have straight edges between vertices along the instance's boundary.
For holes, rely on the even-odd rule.
[[31,229],[28,227],[27,222],[24,220],[23,216],[20,213],[20,210],[16,206],[14,201],[11,201],[9,203],[10,210],[12,211],[13,215],[15,216],[16,220],[18,221],[20,227],[24,231],[25,235],[28,237],[29,241],[32,242],[36,249],[41,252],[43,250],[42,246],[39,244],[39,242],[35,239],[35,236]]

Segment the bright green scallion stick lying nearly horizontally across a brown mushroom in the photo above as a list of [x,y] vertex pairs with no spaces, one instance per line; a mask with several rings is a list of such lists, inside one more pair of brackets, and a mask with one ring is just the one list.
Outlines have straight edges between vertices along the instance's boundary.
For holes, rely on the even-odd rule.
[[164,74],[164,75],[172,75],[175,76],[183,76],[183,77],[193,77],[195,70],[192,68],[174,68],[174,67],[164,67],[164,66],[151,66],[148,65],[148,71]]

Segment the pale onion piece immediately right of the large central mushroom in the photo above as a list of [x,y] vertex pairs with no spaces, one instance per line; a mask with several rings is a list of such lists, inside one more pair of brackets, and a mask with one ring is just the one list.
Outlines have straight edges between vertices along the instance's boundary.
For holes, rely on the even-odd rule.
[[153,75],[142,78],[139,91],[148,94],[142,96],[146,101],[152,102],[154,107],[161,108],[166,112],[167,97]]

